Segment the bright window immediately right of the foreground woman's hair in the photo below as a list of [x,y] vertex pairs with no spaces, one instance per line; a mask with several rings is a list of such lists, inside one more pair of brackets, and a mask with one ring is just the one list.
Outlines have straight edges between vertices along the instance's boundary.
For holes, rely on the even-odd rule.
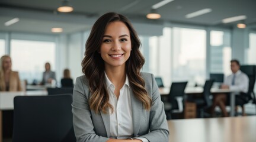
[[143,71],[161,77],[165,86],[171,85],[171,28],[164,28],[162,36],[140,37],[146,58]]

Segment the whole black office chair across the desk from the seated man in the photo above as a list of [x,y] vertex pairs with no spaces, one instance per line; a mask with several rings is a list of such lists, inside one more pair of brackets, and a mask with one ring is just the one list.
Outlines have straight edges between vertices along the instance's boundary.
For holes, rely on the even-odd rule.
[[200,118],[203,118],[204,111],[212,106],[212,100],[210,99],[210,89],[212,88],[212,85],[213,80],[206,80],[203,88],[203,97],[193,99],[193,102],[197,105],[197,111],[199,112],[198,114]]

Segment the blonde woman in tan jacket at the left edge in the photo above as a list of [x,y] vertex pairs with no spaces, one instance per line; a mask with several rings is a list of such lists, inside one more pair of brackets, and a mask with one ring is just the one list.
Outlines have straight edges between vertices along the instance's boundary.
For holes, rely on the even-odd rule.
[[4,55],[0,60],[0,91],[21,91],[18,72],[14,72],[11,69],[11,57]]

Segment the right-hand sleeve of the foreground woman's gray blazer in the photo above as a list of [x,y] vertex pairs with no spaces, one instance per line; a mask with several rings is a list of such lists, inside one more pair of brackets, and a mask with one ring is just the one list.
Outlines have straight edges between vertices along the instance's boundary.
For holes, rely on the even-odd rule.
[[164,111],[164,103],[161,101],[161,96],[154,76],[149,73],[144,74],[148,74],[146,76],[142,74],[142,77],[145,79],[145,87],[152,97],[152,106],[149,114],[149,133],[141,135],[140,137],[145,137],[150,142],[168,142],[169,130]]

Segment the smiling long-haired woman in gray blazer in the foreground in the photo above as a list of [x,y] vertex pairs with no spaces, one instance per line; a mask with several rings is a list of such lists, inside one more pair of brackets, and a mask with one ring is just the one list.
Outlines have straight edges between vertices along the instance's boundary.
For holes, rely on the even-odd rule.
[[89,34],[83,76],[73,90],[77,141],[162,141],[169,137],[164,104],[154,76],[142,73],[145,59],[130,21],[102,15]]

